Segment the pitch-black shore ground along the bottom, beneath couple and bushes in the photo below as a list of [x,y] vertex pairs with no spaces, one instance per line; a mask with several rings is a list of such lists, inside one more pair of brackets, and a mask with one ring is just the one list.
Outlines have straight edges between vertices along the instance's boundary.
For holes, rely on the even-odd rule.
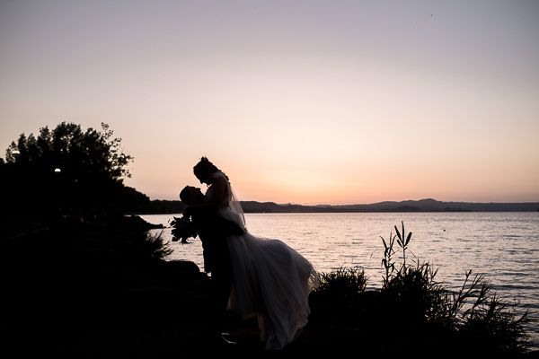
[[454,346],[437,328],[418,331],[413,323],[391,321],[376,292],[355,297],[360,305],[354,306],[354,313],[345,299],[312,293],[309,324],[294,343],[278,352],[263,350],[254,320],[239,320],[230,313],[225,325],[236,344],[225,344],[209,330],[213,319],[208,314],[208,276],[194,263],[148,256],[140,229],[133,223],[61,223],[3,238],[0,355],[500,355],[473,343]]

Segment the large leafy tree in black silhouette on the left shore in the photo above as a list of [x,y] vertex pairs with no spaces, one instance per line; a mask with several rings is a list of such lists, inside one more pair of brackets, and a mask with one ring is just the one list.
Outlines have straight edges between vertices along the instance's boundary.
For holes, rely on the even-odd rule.
[[37,137],[21,134],[0,159],[4,215],[108,215],[147,202],[123,185],[133,157],[120,144],[104,123],[101,130],[62,122],[40,128]]

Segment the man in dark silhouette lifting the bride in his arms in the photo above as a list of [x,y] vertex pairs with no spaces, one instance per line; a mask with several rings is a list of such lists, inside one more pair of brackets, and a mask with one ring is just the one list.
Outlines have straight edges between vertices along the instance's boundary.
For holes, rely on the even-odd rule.
[[242,235],[243,229],[217,213],[215,206],[208,206],[200,188],[186,186],[180,192],[186,204],[186,215],[202,241],[204,271],[211,273],[211,300],[214,329],[220,334],[225,320],[226,305],[232,289],[232,265],[226,236]]

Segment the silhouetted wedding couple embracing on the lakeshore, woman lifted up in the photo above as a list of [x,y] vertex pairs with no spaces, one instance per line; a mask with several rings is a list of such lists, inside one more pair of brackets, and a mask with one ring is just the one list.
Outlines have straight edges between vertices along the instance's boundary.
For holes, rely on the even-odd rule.
[[202,241],[204,270],[211,273],[216,337],[221,337],[226,311],[234,311],[243,320],[257,318],[265,349],[284,348],[307,323],[309,293],[318,285],[318,274],[285,242],[247,231],[228,177],[207,157],[193,172],[208,189],[203,194],[186,186],[180,198],[187,205],[184,217]]

